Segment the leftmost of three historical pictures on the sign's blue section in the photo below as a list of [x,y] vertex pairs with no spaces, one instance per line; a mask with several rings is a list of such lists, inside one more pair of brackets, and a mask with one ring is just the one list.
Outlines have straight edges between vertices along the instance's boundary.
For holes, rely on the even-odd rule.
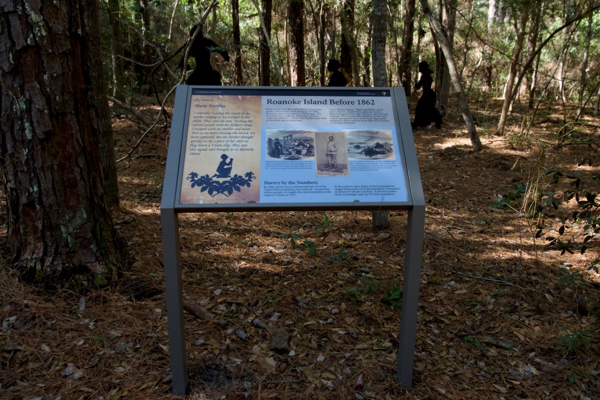
[[314,160],[314,131],[267,129],[267,160]]

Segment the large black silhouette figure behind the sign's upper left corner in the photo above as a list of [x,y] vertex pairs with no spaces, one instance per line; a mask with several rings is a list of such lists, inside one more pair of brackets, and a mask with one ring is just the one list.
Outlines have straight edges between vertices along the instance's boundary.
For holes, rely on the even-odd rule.
[[[196,32],[198,25],[191,28],[190,37]],[[187,79],[188,85],[212,85],[221,86],[221,74],[212,69],[211,53],[217,52],[225,61],[229,61],[227,50],[220,49],[220,46],[209,38],[205,38],[202,29],[198,32],[196,39],[191,44],[190,56],[196,59],[196,68]],[[184,64],[185,64],[184,60]]]

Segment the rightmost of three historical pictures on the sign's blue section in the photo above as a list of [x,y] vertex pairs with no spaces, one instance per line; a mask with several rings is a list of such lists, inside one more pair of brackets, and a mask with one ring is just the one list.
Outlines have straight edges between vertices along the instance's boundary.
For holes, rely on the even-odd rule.
[[391,129],[344,131],[350,160],[395,160]]

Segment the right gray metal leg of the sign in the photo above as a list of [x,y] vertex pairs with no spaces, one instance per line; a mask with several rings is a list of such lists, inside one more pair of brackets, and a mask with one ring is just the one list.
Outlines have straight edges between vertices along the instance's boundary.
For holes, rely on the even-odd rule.
[[412,387],[413,365],[415,362],[416,320],[419,306],[424,228],[425,206],[414,206],[412,210],[409,210],[409,222],[406,232],[402,319],[400,320],[400,338],[398,341],[397,378],[405,389]]

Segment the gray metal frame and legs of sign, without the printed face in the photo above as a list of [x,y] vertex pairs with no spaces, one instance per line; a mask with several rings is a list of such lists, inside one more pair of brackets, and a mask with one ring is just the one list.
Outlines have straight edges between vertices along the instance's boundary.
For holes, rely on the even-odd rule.
[[188,387],[187,355],[185,351],[184,312],[181,285],[181,245],[179,242],[178,214],[185,212],[232,212],[232,211],[289,211],[289,210],[407,210],[408,225],[404,261],[403,301],[401,308],[400,336],[398,337],[397,379],[405,388],[412,387],[415,353],[416,323],[418,311],[419,282],[421,281],[421,258],[425,223],[425,199],[421,184],[415,142],[403,88],[361,88],[364,91],[389,91],[394,108],[398,147],[403,156],[408,201],[401,203],[254,203],[254,204],[179,204],[181,171],[187,137],[190,99],[193,89],[206,91],[295,91],[298,95],[310,91],[354,91],[359,88],[290,88],[253,86],[224,88],[215,86],[179,85],[175,94],[172,129],[164,173],[163,196],[160,205],[163,239],[164,279],[169,326],[169,349],[173,394],[185,395]]

